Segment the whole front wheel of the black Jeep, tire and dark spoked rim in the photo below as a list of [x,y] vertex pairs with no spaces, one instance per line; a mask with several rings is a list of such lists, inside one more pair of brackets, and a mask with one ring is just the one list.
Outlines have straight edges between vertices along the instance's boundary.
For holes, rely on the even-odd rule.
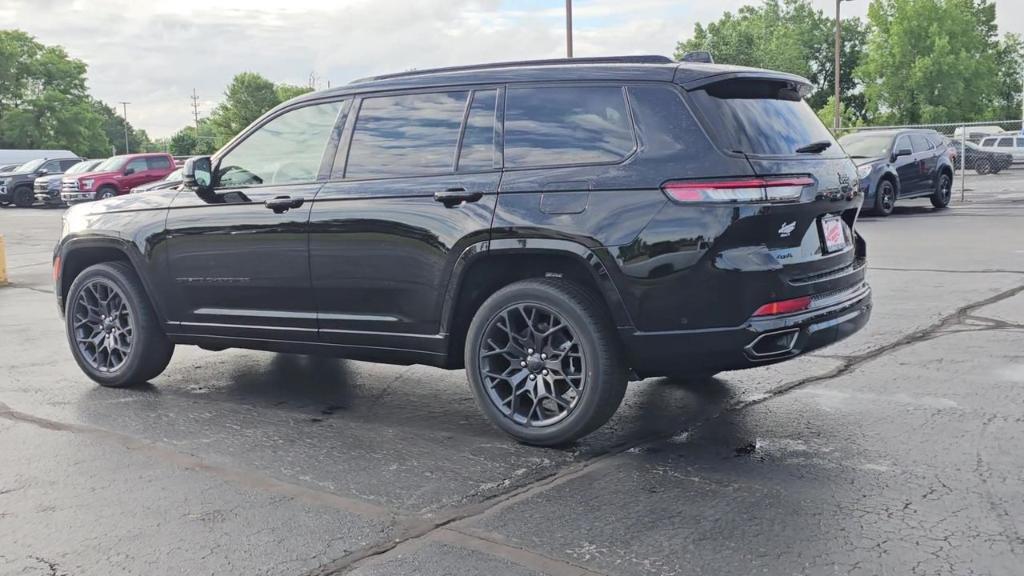
[[75,361],[103,386],[145,382],[163,372],[174,354],[142,283],[126,262],[82,271],[68,291],[65,327]]

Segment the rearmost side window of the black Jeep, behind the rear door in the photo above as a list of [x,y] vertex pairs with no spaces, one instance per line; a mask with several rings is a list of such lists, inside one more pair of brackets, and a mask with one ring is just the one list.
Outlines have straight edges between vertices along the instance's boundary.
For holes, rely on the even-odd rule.
[[505,166],[618,162],[636,148],[621,86],[509,88]]

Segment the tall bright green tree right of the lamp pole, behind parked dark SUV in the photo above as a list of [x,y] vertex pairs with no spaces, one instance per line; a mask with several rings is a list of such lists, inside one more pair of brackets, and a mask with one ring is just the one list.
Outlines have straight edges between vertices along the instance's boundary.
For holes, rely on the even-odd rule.
[[873,0],[867,18],[856,75],[873,122],[955,122],[989,113],[999,82],[994,4]]

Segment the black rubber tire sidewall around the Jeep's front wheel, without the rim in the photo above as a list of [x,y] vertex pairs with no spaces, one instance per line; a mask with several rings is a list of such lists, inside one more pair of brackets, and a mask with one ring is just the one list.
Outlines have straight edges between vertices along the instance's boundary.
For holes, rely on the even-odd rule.
[[[75,337],[75,302],[82,291],[82,288],[93,280],[106,280],[117,286],[128,304],[128,313],[132,319],[132,347],[128,355],[128,360],[114,372],[100,372],[92,367],[87,360],[82,357],[78,349],[78,341]],[[71,347],[75,362],[83,372],[94,381],[104,386],[125,386],[130,385],[135,380],[132,377],[139,371],[139,367],[144,363],[144,356],[153,343],[150,341],[147,331],[141,326],[141,306],[148,305],[148,302],[140,300],[144,294],[137,294],[136,290],[124,277],[124,273],[109,264],[96,264],[90,266],[78,275],[68,291],[68,301],[65,308],[65,330],[68,334],[68,344]]]

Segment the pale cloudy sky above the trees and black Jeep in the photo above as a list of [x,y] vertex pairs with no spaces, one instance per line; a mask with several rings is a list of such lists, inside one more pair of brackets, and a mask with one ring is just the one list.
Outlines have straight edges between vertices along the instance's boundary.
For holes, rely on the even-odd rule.
[[[693,24],[757,0],[575,0],[578,56],[671,55]],[[833,0],[813,0],[830,13]],[[845,2],[864,15],[868,0]],[[1024,1],[996,0],[1024,33]],[[562,0],[2,0],[0,22],[89,65],[92,93],[128,100],[151,136],[208,114],[238,72],[321,86],[370,74],[564,54]],[[4,25],[6,27],[8,25]]]

